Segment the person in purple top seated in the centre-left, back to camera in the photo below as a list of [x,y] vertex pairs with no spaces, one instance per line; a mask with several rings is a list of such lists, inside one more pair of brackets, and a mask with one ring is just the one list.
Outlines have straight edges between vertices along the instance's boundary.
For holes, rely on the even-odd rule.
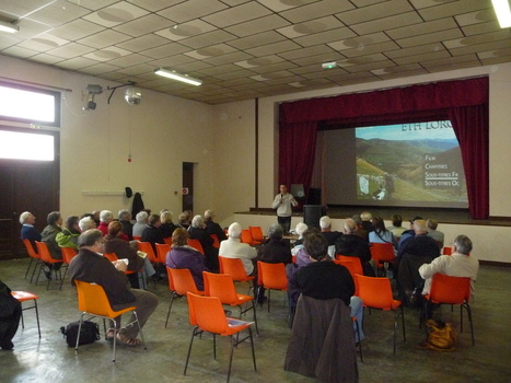
[[172,247],[166,254],[166,266],[170,268],[187,268],[191,272],[197,290],[204,291],[202,271],[209,271],[205,257],[200,252],[187,245],[188,232],[177,228],[172,234]]

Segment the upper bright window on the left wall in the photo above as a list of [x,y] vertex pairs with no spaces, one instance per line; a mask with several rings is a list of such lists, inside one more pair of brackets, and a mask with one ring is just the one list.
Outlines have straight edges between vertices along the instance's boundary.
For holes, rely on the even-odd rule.
[[60,126],[60,94],[0,82],[0,119]]

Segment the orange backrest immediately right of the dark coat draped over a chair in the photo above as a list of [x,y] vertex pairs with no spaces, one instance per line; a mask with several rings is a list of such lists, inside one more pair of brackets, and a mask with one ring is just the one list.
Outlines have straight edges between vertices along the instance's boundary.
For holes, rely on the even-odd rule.
[[358,297],[367,307],[391,310],[393,305],[391,280],[388,278],[355,276]]

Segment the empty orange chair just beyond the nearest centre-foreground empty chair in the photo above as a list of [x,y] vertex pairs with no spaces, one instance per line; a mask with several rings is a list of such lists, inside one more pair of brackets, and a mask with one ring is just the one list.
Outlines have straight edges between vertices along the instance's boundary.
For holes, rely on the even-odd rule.
[[[234,287],[234,281],[230,275],[227,274],[212,274],[202,271],[206,297],[218,297],[222,304],[240,307],[240,320],[243,314],[248,310],[254,310],[254,323],[256,325],[256,333],[259,335],[259,327],[257,326],[257,315],[255,310],[255,300],[251,295],[239,294]],[[243,304],[252,302],[249,307],[243,309]]]

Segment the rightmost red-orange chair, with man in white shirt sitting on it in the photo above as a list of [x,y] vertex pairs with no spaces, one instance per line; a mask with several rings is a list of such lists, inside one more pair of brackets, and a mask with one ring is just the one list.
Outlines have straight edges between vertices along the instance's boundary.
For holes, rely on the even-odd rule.
[[471,323],[472,346],[475,346],[474,338],[474,324],[472,322],[472,309],[468,304],[471,299],[471,278],[469,277],[451,277],[443,274],[433,275],[431,281],[431,289],[428,295],[423,295],[426,301],[423,305],[423,315],[421,320],[427,317],[428,302],[437,304],[458,304],[461,317],[461,332],[463,333],[463,309],[468,314],[468,322]]

